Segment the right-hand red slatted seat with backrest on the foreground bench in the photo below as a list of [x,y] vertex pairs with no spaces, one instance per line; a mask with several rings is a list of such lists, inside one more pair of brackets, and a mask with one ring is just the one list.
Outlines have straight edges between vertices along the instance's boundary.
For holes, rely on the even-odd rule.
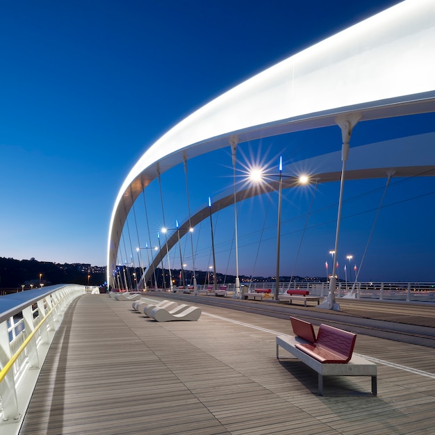
[[345,364],[352,358],[355,340],[352,332],[322,324],[314,343],[296,343],[295,347],[322,364]]

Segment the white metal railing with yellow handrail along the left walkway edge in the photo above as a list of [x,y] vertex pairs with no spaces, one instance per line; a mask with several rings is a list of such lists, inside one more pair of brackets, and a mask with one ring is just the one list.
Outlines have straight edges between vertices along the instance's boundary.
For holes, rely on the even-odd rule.
[[2,435],[17,433],[65,309],[85,293],[85,286],[66,284],[0,297]]

